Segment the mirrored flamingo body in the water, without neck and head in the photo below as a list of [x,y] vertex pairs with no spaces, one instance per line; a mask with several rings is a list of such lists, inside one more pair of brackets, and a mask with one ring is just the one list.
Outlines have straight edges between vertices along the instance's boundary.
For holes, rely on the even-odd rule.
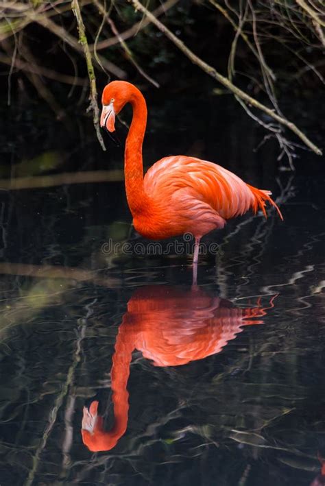
[[265,309],[237,308],[198,287],[142,287],[128,303],[119,332],[154,366],[180,366],[217,354],[242,326],[263,324]]

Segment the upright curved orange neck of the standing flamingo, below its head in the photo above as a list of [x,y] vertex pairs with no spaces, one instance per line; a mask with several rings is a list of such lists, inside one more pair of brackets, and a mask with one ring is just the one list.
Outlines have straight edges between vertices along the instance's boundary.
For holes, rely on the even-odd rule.
[[147,195],[143,186],[142,158],[143,138],[147,125],[147,105],[138,89],[132,90],[128,101],[132,105],[133,116],[125,143],[124,173],[126,197],[132,216],[134,216],[147,206]]

